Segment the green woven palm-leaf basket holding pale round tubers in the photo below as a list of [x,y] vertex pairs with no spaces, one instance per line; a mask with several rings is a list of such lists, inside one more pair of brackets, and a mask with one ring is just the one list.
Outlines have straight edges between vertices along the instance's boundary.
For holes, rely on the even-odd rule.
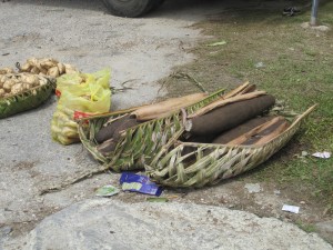
[[[28,73],[13,73],[8,78],[20,79]],[[56,82],[42,76],[36,76],[38,86],[23,89],[16,94],[0,97],[0,119],[39,107],[50,98],[56,89]]]

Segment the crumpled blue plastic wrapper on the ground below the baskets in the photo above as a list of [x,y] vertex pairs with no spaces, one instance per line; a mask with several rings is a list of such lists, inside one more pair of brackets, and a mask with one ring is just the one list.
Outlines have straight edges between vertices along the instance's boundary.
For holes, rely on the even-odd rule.
[[147,176],[123,172],[120,177],[123,191],[140,192],[150,196],[161,196],[162,188],[150,181]]

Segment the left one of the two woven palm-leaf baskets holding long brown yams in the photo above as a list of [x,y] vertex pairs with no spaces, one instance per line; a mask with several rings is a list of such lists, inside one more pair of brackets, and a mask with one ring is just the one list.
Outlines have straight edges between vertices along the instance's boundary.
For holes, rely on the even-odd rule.
[[[223,92],[224,90],[221,89],[202,101],[185,108],[186,113],[191,114],[213,102]],[[97,150],[95,133],[110,119],[125,116],[135,109],[121,110],[81,120],[79,124],[80,140],[94,159],[104,164],[105,169],[109,168],[117,172],[143,169],[144,164],[153,159],[154,154],[173,138],[174,133],[182,130],[182,111],[179,110],[165,118],[151,120],[125,130],[121,134],[114,151],[108,157],[101,154]],[[87,121],[89,121],[88,124]]]

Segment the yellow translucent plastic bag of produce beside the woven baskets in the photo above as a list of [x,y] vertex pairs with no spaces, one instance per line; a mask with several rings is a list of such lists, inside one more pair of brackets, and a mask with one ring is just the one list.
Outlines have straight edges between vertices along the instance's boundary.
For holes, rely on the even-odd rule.
[[[83,76],[83,74],[81,74]],[[108,112],[111,106],[109,87],[110,71],[102,70],[92,74],[84,73],[84,81],[79,82],[80,74],[62,76],[59,102],[51,122],[53,140],[62,144],[79,142],[75,118]]]

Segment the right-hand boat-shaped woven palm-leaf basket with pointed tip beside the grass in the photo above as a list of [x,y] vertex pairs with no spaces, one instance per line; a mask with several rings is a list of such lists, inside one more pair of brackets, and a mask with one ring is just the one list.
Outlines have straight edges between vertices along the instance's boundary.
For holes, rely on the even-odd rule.
[[[182,128],[162,147],[154,159],[145,164],[145,171],[152,181],[168,187],[196,188],[215,184],[266,161],[292,139],[302,120],[314,108],[311,107],[303,114],[296,116],[287,130],[262,146],[182,142],[179,141],[184,132]],[[184,151],[188,147],[192,149],[190,152]]]

